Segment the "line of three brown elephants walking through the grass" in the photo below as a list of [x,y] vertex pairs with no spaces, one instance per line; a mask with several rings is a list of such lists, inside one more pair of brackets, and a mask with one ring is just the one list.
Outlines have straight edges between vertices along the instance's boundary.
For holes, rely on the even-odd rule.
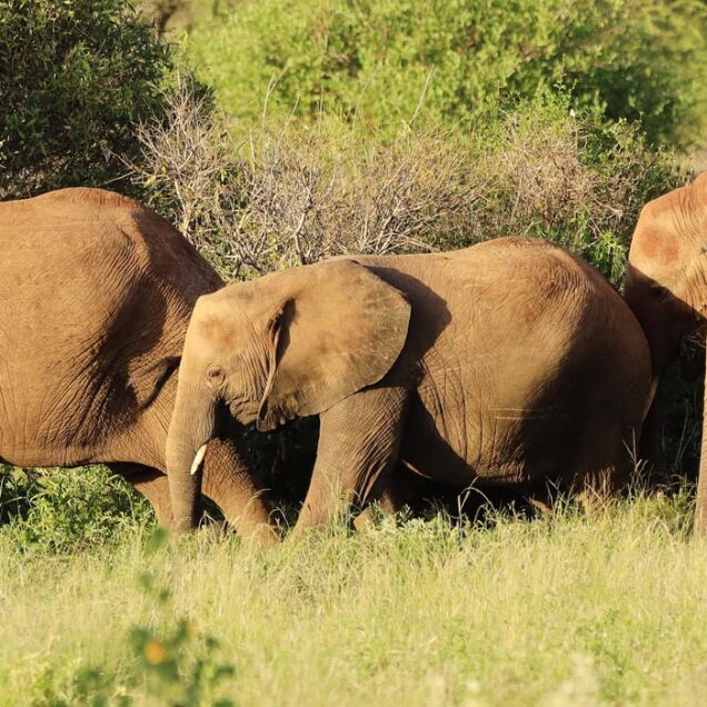
[[[707,175],[648,203],[625,299],[526,238],[351,256],[223,286],[150,209],[99,189],[0,203],[0,462],[106,464],[176,531],[212,499],[279,535],[245,432],[319,416],[292,531],[419,477],[586,506],[621,491],[661,372],[704,348]],[[707,435],[696,529],[707,528]]]

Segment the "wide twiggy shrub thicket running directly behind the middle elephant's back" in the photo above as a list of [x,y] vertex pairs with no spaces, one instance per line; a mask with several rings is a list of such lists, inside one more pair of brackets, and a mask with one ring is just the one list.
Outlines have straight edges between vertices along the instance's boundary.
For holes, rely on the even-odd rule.
[[311,127],[266,121],[239,142],[182,86],[167,119],[138,131],[132,178],[227,279],[528,235],[618,283],[641,206],[677,176],[636,127],[570,100],[541,91],[465,139],[420,129],[380,140],[321,116]]

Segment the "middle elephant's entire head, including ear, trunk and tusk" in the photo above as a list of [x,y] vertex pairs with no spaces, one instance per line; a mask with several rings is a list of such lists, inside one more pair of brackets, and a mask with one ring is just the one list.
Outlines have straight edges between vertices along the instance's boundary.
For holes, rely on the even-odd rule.
[[193,526],[198,470],[220,409],[271,430],[378,382],[405,343],[410,306],[352,260],[235,283],[195,307],[167,440],[175,521]]

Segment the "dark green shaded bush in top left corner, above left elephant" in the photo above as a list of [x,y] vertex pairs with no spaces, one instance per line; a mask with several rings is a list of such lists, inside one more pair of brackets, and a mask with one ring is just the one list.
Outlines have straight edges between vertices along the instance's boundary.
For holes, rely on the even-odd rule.
[[0,198],[118,176],[170,67],[129,0],[0,0]]

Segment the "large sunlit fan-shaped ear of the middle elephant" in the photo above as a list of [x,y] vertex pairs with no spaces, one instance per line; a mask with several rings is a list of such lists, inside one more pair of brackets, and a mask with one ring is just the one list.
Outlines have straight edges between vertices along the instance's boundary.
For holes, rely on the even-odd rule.
[[402,293],[352,260],[270,277],[283,279],[286,292],[268,327],[263,431],[378,382],[402,350],[410,320]]

